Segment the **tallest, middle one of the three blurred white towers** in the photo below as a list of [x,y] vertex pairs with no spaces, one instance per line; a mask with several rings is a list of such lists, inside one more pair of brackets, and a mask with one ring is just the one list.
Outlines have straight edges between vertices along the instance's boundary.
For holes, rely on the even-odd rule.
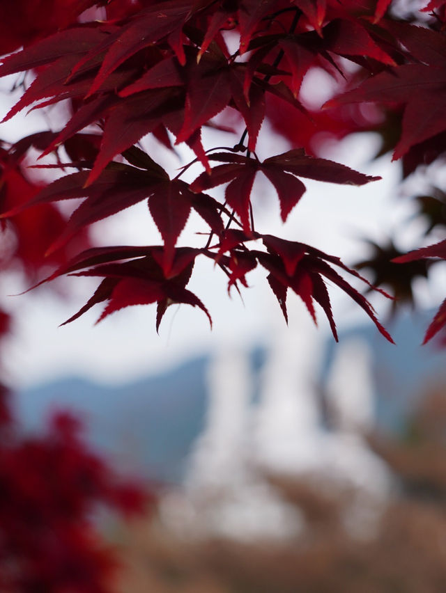
[[311,465],[320,433],[315,386],[321,333],[301,304],[293,303],[298,313],[290,327],[271,337],[256,413],[254,454],[282,471]]

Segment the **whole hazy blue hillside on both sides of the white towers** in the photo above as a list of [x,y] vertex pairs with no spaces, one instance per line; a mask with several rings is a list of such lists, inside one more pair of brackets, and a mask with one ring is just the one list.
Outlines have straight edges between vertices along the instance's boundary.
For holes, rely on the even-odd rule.
[[[442,377],[446,381],[446,350],[420,346],[430,317],[431,312],[416,317],[399,315],[390,326],[397,347],[386,342],[372,324],[344,331],[338,345],[328,339],[315,384],[326,383],[348,340],[365,340],[371,350],[371,388],[378,424],[399,429],[405,413],[429,381],[438,383]],[[257,347],[247,356],[252,370],[249,401],[261,406],[261,370],[268,363],[268,351]],[[19,391],[13,398],[15,411],[26,429],[39,430],[52,409],[72,409],[86,420],[89,441],[112,456],[118,466],[155,480],[178,483],[192,444],[206,425],[209,363],[210,356],[203,355],[167,372],[117,387],[78,377],[59,379]],[[279,384],[280,377],[277,381]]]

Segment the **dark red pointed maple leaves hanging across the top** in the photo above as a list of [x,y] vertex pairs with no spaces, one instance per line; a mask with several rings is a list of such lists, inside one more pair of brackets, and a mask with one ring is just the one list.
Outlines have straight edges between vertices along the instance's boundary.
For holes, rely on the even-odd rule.
[[[386,150],[403,161],[406,174],[424,163],[428,152],[439,158],[446,134],[444,2],[421,2],[420,10],[431,17],[419,26],[397,17],[390,0],[70,0],[35,30],[30,23],[37,4],[26,5],[26,19],[21,25],[14,21],[5,38],[4,52],[24,47],[3,58],[0,76],[31,73],[32,81],[23,83],[22,97],[3,120],[25,108],[61,102],[69,113],[59,132],[22,139],[10,146],[7,158],[33,145],[39,158],[56,157],[56,164],[38,166],[77,171],[26,203],[3,206],[2,219],[15,221],[37,207],[83,198],[50,240],[46,253],[52,257],[92,223],[146,200],[162,238],[160,245],[86,249],[59,265],[46,279],[102,278],[68,321],[96,303],[105,303],[100,319],[148,303],[157,304],[157,327],[172,303],[199,307],[210,319],[187,289],[194,261],[204,257],[236,290],[247,286],[249,271],[263,267],[285,318],[291,289],[315,321],[314,303],[321,306],[336,338],[325,285],[330,281],[391,340],[369,301],[333,265],[361,278],[357,272],[311,246],[256,232],[253,184],[259,173],[266,177],[285,222],[305,192],[302,179],[357,186],[377,179],[321,158],[315,141],[321,131],[339,139],[380,129]],[[314,68],[328,72],[344,91],[323,111],[307,110],[300,97],[302,81]],[[364,107],[370,103],[370,109]],[[229,111],[243,122],[244,132],[235,144],[205,147],[202,128],[222,127],[215,117],[220,122]],[[292,148],[261,161],[256,146],[267,117]],[[169,175],[155,153],[144,150],[147,134],[171,150],[186,143],[203,173],[186,182],[187,164]],[[226,184],[223,203],[208,193],[221,184]],[[208,238],[201,248],[178,247],[192,210],[208,225]]]

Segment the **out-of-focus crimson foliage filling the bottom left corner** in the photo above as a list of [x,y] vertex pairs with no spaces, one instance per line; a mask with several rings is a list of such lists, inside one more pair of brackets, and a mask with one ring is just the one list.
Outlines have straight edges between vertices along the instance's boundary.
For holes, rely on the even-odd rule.
[[0,591],[108,593],[118,561],[102,537],[99,507],[141,515],[151,496],[119,478],[57,413],[44,435],[24,434],[0,385]]

